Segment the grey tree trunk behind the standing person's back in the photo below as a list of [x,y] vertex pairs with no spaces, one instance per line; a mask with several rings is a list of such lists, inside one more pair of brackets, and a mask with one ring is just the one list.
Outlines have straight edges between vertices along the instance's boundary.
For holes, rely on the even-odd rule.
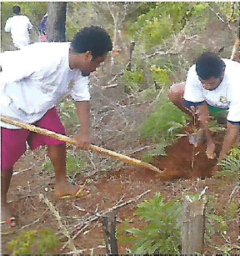
[[47,41],[66,41],[66,2],[50,2],[47,6]]

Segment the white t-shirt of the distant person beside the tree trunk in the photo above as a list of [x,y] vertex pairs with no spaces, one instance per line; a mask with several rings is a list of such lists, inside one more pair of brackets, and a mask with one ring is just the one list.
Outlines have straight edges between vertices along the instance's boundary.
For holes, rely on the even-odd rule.
[[5,31],[11,32],[13,44],[16,48],[23,48],[30,43],[28,30],[32,29],[32,23],[24,15],[14,15],[7,19]]

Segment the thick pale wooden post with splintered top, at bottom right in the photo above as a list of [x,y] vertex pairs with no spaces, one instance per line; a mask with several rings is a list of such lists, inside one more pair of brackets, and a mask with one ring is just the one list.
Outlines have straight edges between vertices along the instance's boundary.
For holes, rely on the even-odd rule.
[[182,226],[183,254],[203,253],[206,205],[207,199],[205,197],[198,199],[185,197]]

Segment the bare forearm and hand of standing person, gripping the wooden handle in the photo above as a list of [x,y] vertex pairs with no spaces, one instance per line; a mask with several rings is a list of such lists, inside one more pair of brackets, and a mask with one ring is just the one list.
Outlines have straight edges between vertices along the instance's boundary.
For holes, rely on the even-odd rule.
[[90,103],[89,101],[81,101],[76,103],[77,117],[81,124],[80,132],[73,136],[77,141],[77,147],[82,150],[90,148]]

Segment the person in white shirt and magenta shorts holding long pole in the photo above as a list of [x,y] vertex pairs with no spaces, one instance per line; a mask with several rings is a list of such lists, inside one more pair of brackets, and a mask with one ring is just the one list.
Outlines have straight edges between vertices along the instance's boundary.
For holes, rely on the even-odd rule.
[[[80,133],[74,138],[78,148],[89,149],[88,75],[99,67],[109,51],[112,41],[107,32],[92,26],[82,28],[71,43],[32,43],[19,51],[0,53],[2,115],[66,134],[55,106],[69,94],[76,102],[81,124]],[[31,149],[47,145],[56,174],[57,198],[77,197],[82,193],[82,188],[67,182],[65,143],[3,122],[1,133],[1,218],[6,228],[16,227],[7,204],[7,191],[13,164],[26,151],[26,142]]]

